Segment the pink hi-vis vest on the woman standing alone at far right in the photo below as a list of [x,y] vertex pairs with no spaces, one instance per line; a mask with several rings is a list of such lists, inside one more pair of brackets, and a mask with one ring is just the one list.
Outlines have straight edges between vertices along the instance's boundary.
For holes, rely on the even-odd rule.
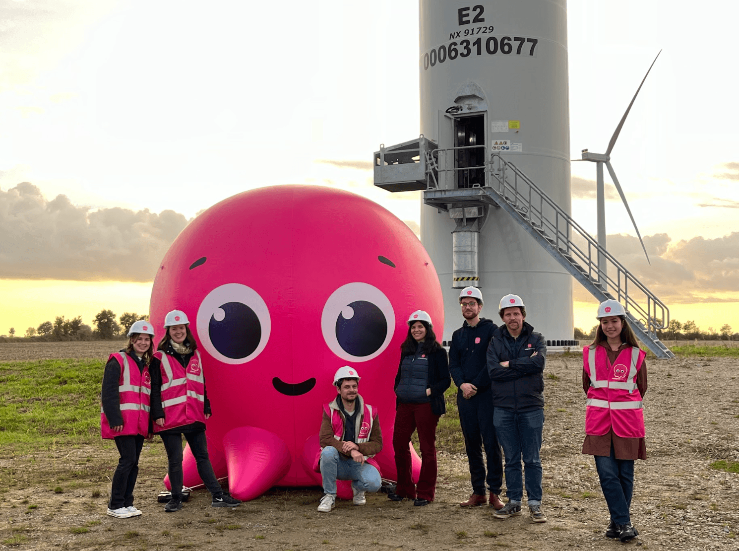
[[611,365],[604,347],[582,349],[585,372],[590,375],[585,433],[602,436],[613,428],[621,438],[644,438],[644,405],[636,376],[646,355],[638,347],[624,348]]

